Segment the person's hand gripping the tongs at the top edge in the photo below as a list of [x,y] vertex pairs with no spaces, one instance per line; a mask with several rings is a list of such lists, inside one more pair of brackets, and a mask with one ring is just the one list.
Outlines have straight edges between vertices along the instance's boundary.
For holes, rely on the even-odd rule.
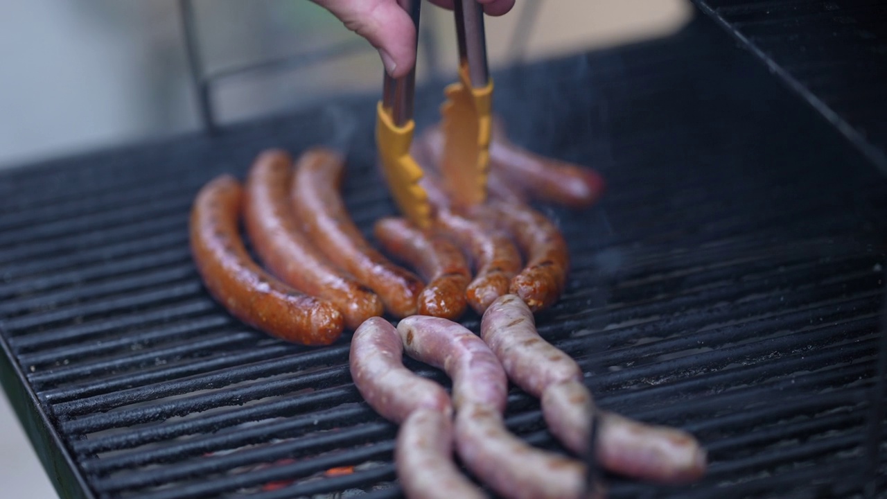
[[[363,36],[378,51],[385,71],[400,77],[416,64],[416,30],[410,15],[397,0],[312,0],[341,20],[346,28]],[[452,9],[453,0],[428,0]],[[500,16],[514,7],[514,0],[477,0],[483,12]]]

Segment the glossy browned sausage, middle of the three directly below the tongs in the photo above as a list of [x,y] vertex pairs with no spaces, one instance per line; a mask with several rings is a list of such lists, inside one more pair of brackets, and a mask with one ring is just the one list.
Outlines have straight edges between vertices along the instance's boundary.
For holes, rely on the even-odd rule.
[[466,249],[472,258],[475,279],[468,283],[466,298],[475,312],[483,313],[493,300],[508,292],[521,270],[521,254],[511,237],[498,227],[450,211],[433,173],[422,178],[421,184],[436,207],[435,230]]

